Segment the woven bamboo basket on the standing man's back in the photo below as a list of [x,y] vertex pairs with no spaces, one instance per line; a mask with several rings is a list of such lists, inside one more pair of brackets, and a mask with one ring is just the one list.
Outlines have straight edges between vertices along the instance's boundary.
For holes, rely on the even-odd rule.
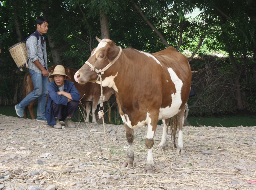
[[20,71],[23,71],[22,68],[26,67],[28,60],[26,42],[22,41],[14,44],[8,48],[8,51],[11,53],[12,59],[19,67]]

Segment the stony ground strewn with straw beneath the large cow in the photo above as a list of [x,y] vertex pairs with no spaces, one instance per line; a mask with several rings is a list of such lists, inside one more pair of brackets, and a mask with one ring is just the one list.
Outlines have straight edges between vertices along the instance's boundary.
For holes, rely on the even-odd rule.
[[134,168],[127,170],[121,168],[127,151],[124,125],[105,125],[112,165],[103,124],[76,124],[59,130],[0,115],[0,189],[256,189],[256,126],[186,126],[185,153],[177,155],[171,136],[165,151],[155,151],[162,137],[159,125],[156,172],[143,175],[147,127],[134,130]]

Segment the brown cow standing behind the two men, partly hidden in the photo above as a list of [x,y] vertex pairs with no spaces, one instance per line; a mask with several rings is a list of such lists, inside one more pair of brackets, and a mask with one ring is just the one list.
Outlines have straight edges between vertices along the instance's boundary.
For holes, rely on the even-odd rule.
[[[48,69],[50,74],[53,72],[55,67],[56,65]],[[85,108],[86,108],[85,122],[89,122],[89,115],[91,112],[90,102],[92,102],[92,122],[97,123],[95,110],[97,109],[97,105],[100,103],[100,85],[97,83],[78,84],[74,79],[74,75],[76,71],[77,71],[76,69],[65,67],[66,75],[70,77],[70,79],[67,79],[67,80],[73,82],[76,86],[77,91],[80,93],[81,103],[82,105],[85,105]],[[25,75],[23,80],[23,97],[26,97],[33,90],[34,90],[34,85],[33,85],[31,76],[28,72]],[[112,94],[114,94],[114,90],[112,88],[103,87],[103,95],[105,95],[105,101],[108,101],[108,99]],[[35,119],[35,115],[33,113],[34,103],[35,103],[35,100],[28,105],[28,110],[32,119]],[[24,117],[28,118],[26,115],[26,111],[24,113]]]

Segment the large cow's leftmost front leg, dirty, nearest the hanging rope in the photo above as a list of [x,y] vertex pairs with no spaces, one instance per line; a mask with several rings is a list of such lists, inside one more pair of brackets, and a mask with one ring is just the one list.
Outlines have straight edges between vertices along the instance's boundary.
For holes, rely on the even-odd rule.
[[126,131],[126,139],[128,141],[128,150],[126,155],[126,160],[124,161],[122,168],[132,168],[133,167],[133,160],[134,154],[132,149],[133,139],[134,139],[134,131],[128,125],[124,124],[125,131]]

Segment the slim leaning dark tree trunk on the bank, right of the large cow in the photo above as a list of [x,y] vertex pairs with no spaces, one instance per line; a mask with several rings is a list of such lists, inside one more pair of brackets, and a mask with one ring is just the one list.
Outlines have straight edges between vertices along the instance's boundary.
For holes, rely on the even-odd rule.
[[244,105],[243,105],[241,89],[240,89],[240,73],[238,72],[234,55],[231,52],[230,44],[227,44],[227,47],[228,47],[229,58],[233,66],[233,71],[235,73],[235,89],[236,89],[235,98],[237,100],[236,106],[237,106],[237,110],[242,111],[244,110]]

